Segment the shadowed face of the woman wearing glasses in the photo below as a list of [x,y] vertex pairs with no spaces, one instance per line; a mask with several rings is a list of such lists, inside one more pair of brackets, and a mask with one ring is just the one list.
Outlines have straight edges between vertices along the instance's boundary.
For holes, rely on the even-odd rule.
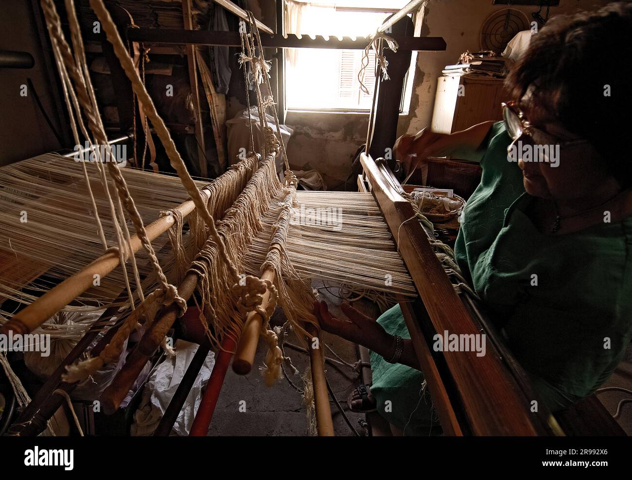
[[542,131],[535,131],[533,137],[523,135],[511,144],[518,153],[527,193],[558,200],[584,198],[611,177],[590,143],[563,145],[578,136],[541,109],[521,108],[531,125]]

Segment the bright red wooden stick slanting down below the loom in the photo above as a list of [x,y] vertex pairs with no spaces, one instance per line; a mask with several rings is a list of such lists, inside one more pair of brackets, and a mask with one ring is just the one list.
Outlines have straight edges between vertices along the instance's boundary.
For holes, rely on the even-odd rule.
[[215,365],[210,373],[209,383],[207,383],[202,402],[200,402],[200,407],[198,407],[195,419],[193,419],[193,426],[191,426],[189,436],[208,435],[210,421],[213,419],[217,399],[219,399],[219,393],[222,390],[224,378],[226,378],[226,372],[233,356],[231,352],[235,347],[235,341],[231,337],[226,337],[222,341],[222,349],[217,353]]

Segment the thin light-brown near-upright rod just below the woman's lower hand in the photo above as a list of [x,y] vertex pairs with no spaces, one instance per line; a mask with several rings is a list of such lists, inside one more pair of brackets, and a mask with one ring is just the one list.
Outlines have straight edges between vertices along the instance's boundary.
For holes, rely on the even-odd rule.
[[[318,332],[313,325],[305,324],[305,330],[312,335],[310,339],[310,363],[312,365],[312,387],[314,392],[314,406],[316,410],[316,425],[319,436],[334,436],[334,421],[331,417],[329,406],[329,392],[327,392],[327,380],[325,379],[324,356]],[[316,341],[317,340],[317,341]],[[314,348],[317,345],[318,348]]]

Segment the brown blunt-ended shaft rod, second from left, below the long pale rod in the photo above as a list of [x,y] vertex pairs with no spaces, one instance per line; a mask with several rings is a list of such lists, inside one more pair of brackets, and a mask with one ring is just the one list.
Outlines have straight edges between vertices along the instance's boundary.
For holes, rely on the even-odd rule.
[[[196,272],[186,274],[185,279],[178,285],[178,293],[183,299],[188,300],[193,294],[199,278]],[[175,303],[164,306],[161,309],[157,315],[157,320],[152,323],[149,330],[140,339],[125,365],[116,374],[109,387],[101,393],[101,407],[107,415],[111,415],[118,410],[143,367],[154,354],[158,345],[161,344],[162,339],[169,332],[169,328],[172,327],[174,321],[176,321],[178,313],[179,307]]]

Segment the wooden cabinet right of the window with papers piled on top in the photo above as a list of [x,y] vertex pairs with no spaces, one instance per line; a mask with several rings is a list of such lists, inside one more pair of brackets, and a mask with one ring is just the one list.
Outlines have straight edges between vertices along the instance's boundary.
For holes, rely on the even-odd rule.
[[440,76],[437,79],[432,131],[452,133],[487,120],[501,120],[501,102],[509,100],[502,78]]

